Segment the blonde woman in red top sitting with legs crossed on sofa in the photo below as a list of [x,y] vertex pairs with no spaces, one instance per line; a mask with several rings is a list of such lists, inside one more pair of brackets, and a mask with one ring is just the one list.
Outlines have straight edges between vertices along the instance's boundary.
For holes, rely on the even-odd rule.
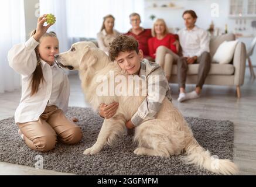
[[149,56],[161,65],[169,81],[172,64],[179,58],[179,41],[174,34],[169,33],[163,19],[156,19],[152,28],[152,36],[148,40]]

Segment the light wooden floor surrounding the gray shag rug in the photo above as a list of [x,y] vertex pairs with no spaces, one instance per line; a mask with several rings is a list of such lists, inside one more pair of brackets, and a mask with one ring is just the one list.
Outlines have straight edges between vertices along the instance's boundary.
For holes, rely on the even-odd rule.
[[[70,75],[69,106],[87,107],[77,75]],[[178,85],[172,84],[173,103],[184,116],[234,122],[234,162],[241,175],[256,175],[256,81],[251,81],[249,70],[241,87],[241,99],[237,99],[233,86],[205,85],[202,98],[184,103],[176,102]],[[187,90],[193,89],[188,85]],[[0,94],[0,120],[12,117],[19,104],[21,91]],[[0,175],[70,175],[46,169],[36,169],[18,164],[0,162]]]

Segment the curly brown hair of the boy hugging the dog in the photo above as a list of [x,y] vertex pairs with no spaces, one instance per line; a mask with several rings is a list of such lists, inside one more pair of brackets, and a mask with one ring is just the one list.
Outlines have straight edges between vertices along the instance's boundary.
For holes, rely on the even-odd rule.
[[120,35],[117,36],[111,43],[108,50],[108,54],[110,56],[110,60],[114,61],[115,58],[118,57],[120,52],[125,51],[136,51],[139,53],[138,49],[138,41],[132,36]]

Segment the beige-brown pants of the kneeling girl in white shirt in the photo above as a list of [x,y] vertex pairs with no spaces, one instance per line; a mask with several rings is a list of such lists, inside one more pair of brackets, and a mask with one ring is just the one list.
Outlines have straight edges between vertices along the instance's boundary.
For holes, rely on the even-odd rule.
[[55,147],[57,136],[63,143],[75,144],[82,138],[79,126],[66,118],[57,106],[47,106],[36,122],[18,123],[25,143],[36,151],[49,151]]

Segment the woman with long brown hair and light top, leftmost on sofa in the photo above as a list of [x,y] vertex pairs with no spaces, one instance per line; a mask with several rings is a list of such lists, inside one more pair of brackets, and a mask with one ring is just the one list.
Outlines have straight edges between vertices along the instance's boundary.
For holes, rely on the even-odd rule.
[[98,47],[108,54],[108,46],[111,41],[120,35],[120,33],[114,29],[115,18],[112,15],[107,15],[103,18],[103,25],[101,30],[97,33]]

